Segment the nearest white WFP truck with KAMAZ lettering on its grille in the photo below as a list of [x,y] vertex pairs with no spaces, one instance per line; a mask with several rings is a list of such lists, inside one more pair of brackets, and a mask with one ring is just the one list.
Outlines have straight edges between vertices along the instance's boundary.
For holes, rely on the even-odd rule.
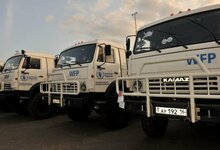
[[118,103],[144,114],[148,136],[162,136],[168,119],[220,121],[220,5],[188,10],[127,38],[128,77],[117,79]]

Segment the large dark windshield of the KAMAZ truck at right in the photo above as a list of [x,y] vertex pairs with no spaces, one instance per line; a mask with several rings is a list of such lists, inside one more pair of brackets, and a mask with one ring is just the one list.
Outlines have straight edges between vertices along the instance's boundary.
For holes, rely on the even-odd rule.
[[178,18],[138,32],[134,54],[220,39],[220,10]]

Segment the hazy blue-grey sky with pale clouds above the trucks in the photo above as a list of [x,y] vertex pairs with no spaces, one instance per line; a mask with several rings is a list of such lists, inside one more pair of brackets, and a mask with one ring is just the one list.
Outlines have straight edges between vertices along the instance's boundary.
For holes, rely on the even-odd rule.
[[0,60],[17,50],[59,54],[74,43],[124,43],[137,26],[219,0],[0,0]]

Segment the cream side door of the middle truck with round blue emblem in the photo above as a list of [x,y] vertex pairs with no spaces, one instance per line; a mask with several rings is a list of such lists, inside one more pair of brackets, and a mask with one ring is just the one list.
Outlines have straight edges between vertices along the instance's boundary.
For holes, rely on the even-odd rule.
[[111,55],[105,55],[104,48],[98,48],[95,70],[95,91],[105,92],[109,84],[111,84],[119,76],[118,48],[111,48]]

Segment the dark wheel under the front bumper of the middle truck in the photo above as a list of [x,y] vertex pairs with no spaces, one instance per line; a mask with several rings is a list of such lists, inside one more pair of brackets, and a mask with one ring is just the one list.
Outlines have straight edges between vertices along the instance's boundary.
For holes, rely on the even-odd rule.
[[77,107],[66,107],[66,114],[67,116],[74,120],[74,121],[82,121],[88,118],[88,116],[91,114],[92,108],[84,106],[83,108],[77,108]]

